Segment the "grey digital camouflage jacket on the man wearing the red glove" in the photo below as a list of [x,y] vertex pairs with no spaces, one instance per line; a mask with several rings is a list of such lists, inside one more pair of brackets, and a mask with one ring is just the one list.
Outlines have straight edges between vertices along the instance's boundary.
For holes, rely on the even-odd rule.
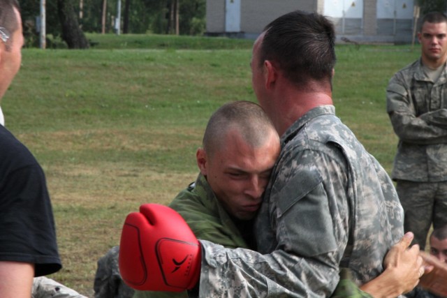
[[201,241],[200,297],[329,297],[339,267],[370,281],[404,234],[393,182],[335,107],[307,112],[281,146],[256,221],[261,253]]

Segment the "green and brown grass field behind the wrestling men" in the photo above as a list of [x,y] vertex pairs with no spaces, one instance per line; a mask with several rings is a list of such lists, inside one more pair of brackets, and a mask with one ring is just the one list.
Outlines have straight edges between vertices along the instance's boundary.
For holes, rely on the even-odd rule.
[[[251,40],[88,38],[90,50],[24,49],[2,108],[47,175],[64,263],[51,277],[93,297],[96,261],[119,243],[126,214],[170,202],[196,178],[210,114],[256,98]],[[418,55],[409,45],[337,46],[337,114],[388,171],[397,139],[386,84]]]

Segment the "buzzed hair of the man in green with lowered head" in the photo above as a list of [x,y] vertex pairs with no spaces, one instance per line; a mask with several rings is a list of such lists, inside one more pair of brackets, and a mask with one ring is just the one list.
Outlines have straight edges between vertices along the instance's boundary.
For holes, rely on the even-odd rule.
[[255,148],[265,143],[270,131],[276,132],[260,105],[247,100],[226,103],[208,121],[203,135],[205,152],[212,156],[217,150],[223,149],[225,136],[233,129],[237,129],[245,142]]

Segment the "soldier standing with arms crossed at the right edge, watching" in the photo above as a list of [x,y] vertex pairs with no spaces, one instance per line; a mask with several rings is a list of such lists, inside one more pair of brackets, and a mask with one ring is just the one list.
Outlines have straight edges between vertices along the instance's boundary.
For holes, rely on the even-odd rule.
[[429,13],[418,33],[422,54],[386,89],[399,137],[392,177],[404,208],[404,230],[425,248],[430,225],[447,223],[447,18]]

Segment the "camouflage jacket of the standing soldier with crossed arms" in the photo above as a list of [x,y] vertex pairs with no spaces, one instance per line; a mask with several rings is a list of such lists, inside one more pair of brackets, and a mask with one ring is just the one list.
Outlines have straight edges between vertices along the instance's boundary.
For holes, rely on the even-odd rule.
[[399,137],[392,177],[447,180],[447,73],[437,82],[420,60],[398,71],[386,89],[386,110]]

